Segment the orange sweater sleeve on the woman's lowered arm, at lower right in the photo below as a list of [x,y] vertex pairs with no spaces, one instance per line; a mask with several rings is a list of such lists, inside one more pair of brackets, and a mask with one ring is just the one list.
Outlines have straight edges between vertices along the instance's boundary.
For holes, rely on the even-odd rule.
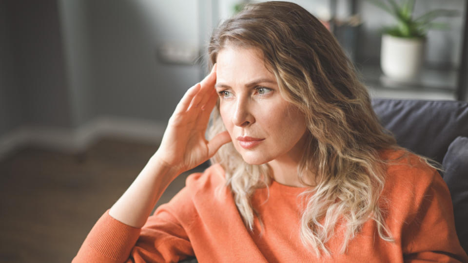
[[[422,183],[421,183],[422,181]],[[402,229],[405,262],[468,262],[455,231],[448,187],[437,171],[420,178],[415,189],[415,212]]]

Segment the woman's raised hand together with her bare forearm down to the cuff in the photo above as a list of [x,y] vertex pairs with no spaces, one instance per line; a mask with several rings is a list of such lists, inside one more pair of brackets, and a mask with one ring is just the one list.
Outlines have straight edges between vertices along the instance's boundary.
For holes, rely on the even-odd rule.
[[215,82],[214,67],[210,75],[185,93],[169,119],[161,146],[111,207],[110,216],[124,224],[142,227],[157,200],[181,172],[208,160],[221,145],[231,141],[227,131],[211,141],[205,139],[217,100]]

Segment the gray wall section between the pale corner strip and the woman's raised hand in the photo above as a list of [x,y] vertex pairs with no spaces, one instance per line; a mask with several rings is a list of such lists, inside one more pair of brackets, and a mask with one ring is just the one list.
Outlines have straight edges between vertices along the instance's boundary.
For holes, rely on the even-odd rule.
[[98,114],[166,121],[199,67],[158,62],[163,41],[198,44],[196,1],[88,1]]

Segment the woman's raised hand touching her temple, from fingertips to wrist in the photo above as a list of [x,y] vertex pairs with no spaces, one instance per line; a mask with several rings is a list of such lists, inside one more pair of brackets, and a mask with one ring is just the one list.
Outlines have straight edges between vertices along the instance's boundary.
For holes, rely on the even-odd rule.
[[177,104],[169,119],[161,145],[153,158],[177,174],[193,169],[211,158],[231,141],[227,131],[211,141],[205,138],[210,113],[216,105],[216,65],[200,83],[191,87]]

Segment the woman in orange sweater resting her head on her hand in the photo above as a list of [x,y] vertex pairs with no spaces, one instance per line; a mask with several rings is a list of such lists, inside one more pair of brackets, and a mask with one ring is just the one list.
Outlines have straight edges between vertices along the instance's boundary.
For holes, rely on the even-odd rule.
[[[309,12],[250,5],[215,31],[209,55],[212,72],[75,262],[468,261],[442,178],[385,132]],[[149,216],[178,174],[209,158]]]

